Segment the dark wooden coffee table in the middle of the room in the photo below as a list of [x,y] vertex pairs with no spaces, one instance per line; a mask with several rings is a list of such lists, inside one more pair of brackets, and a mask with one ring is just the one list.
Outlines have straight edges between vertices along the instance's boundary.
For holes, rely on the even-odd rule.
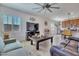
[[43,41],[46,41],[46,40],[49,40],[49,39],[50,39],[51,44],[52,44],[52,42],[53,42],[53,36],[51,36],[51,37],[41,37],[41,38],[31,37],[30,39],[31,39],[31,45],[33,45],[33,39],[38,39],[38,40],[36,41],[36,49],[37,49],[37,50],[39,50],[39,43],[40,43],[40,42],[43,42]]

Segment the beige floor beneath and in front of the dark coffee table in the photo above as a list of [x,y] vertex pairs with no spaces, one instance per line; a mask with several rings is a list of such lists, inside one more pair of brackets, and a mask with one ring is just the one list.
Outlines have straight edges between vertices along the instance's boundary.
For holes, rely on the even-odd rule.
[[31,45],[30,41],[23,41],[22,45],[29,51],[29,56],[50,56],[50,40],[40,43],[39,50],[36,50],[36,44],[34,43],[34,45]]

